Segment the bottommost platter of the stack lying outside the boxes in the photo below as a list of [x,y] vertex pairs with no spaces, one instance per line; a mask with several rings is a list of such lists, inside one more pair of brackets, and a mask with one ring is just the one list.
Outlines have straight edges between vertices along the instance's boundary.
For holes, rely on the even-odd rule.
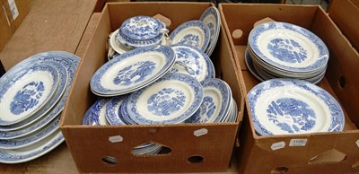
[[59,144],[64,142],[64,140],[65,138],[61,134],[61,131],[57,130],[55,133],[49,135],[45,139],[28,147],[16,150],[0,150],[0,162],[13,164],[34,160],[50,152]]

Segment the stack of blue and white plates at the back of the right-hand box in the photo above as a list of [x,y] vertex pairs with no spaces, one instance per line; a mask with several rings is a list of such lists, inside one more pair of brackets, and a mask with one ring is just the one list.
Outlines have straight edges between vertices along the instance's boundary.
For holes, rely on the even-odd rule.
[[285,22],[260,24],[250,31],[246,63],[258,80],[296,78],[319,83],[328,48],[310,30]]

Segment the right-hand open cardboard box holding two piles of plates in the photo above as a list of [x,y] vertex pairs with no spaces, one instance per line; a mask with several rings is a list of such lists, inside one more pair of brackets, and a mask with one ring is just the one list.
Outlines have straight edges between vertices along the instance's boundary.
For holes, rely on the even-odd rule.
[[[340,5],[339,5],[340,4]],[[357,27],[358,21],[352,19],[348,26],[336,25],[331,18],[343,15],[336,8],[351,4],[340,1],[325,13],[320,6],[279,5],[279,4],[220,4],[225,32],[230,39],[236,65],[244,82],[243,95],[258,84],[258,80],[247,71],[244,51],[247,47],[250,30],[255,22],[269,17],[277,22],[291,22],[302,26],[322,39],[329,49],[329,62],[325,78],[318,84],[341,103],[345,110],[346,125],[343,132],[318,133],[306,135],[268,135],[255,134],[250,113],[245,113],[240,130],[240,147],[236,149],[240,173],[358,173],[359,172],[359,67],[358,52],[341,32],[342,27]],[[346,11],[342,9],[342,11]],[[353,11],[352,11],[353,12]],[[341,16],[345,20],[346,13]],[[351,19],[351,18],[349,18]],[[354,26],[351,26],[354,25]],[[242,37],[232,38],[234,30],[241,30]],[[353,30],[352,30],[353,31]],[[354,34],[359,31],[355,30]],[[351,37],[351,33],[347,35]],[[351,40],[351,39],[349,39]],[[358,39],[355,40],[357,42]],[[355,44],[353,42],[353,44]],[[247,106],[247,110],[249,110]],[[291,146],[298,140],[302,146]],[[283,148],[272,150],[272,145],[284,144]]]

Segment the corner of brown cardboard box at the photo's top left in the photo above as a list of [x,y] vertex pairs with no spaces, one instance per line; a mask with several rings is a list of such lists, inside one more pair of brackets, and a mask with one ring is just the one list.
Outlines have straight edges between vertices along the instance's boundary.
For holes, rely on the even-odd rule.
[[29,0],[0,1],[0,52],[29,11]]

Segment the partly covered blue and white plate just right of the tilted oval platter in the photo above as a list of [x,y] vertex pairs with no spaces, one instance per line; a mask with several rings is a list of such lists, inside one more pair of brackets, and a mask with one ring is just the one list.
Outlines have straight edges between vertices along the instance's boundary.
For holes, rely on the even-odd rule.
[[171,73],[188,74],[199,82],[215,78],[215,65],[201,49],[183,44],[171,48],[176,53],[176,63]]

